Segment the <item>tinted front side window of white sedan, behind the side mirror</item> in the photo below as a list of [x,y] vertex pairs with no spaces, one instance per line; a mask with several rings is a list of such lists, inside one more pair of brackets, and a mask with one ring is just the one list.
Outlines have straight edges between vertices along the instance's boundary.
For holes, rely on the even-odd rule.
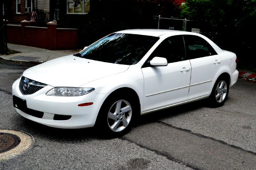
[[168,63],[185,60],[185,46],[182,35],[166,38],[150,55],[153,57],[164,57]]

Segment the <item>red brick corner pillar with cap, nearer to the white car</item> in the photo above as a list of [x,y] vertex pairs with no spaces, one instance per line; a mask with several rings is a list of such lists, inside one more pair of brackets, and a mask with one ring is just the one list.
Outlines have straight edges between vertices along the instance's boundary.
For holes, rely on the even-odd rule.
[[48,44],[49,50],[56,50],[57,49],[57,23],[55,22],[48,22],[46,23],[48,26]]

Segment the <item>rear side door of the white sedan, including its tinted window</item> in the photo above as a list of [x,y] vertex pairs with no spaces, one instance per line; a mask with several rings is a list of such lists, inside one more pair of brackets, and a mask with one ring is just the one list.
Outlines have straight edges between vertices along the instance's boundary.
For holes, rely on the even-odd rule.
[[221,66],[221,57],[202,37],[184,35],[186,57],[191,63],[188,100],[211,93],[214,79]]

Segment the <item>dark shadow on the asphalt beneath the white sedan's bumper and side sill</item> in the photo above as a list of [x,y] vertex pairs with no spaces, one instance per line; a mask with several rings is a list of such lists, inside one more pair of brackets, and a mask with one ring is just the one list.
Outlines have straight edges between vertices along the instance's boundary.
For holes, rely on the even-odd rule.
[[[149,113],[147,115],[142,115],[136,121],[134,128],[145,125],[148,123],[154,123],[159,121],[160,119],[166,119],[175,117],[178,115],[186,114],[188,111],[193,111],[196,109],[200,109],[204,107],[205,101],[201,100],[198,102],[193,102],[189,104],[185,104],[182,106],[171,107],[168,109],[164,109],[161,111],[156,111],[153,113]],[[34,121],[30,121],[24,117],[19,117],[20,119],[17,123],[19,129],[25,132],[30,133],[35,138],[35,145],[37,145],[37,141],[40,139],[43,140],[54,140],[60,143],[76,143],[76,142],[88,142],[91,140],[106,140],[106,139],[114,139],[116,137],[110,137],[100,133],[100,131],[94,127],[83,128],[83,129],[59,129],[54,127],[48,127],[46,125],[42,125],[40,123],[36,123]],[[120,136],[121,137],[121,136]]]

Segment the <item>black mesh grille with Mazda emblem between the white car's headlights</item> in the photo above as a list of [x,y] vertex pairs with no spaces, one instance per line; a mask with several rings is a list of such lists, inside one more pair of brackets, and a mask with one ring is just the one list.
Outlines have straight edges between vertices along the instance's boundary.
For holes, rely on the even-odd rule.
[[33,94],[35,92],[37,92],[38,90],[44,88],[45,86],[47,86],[46,84],[31,80],[29,78],[26,78],[24,76],[22,76],[21,80],[20,80],[20,92],[23,95],[28,95],[28,94]]

